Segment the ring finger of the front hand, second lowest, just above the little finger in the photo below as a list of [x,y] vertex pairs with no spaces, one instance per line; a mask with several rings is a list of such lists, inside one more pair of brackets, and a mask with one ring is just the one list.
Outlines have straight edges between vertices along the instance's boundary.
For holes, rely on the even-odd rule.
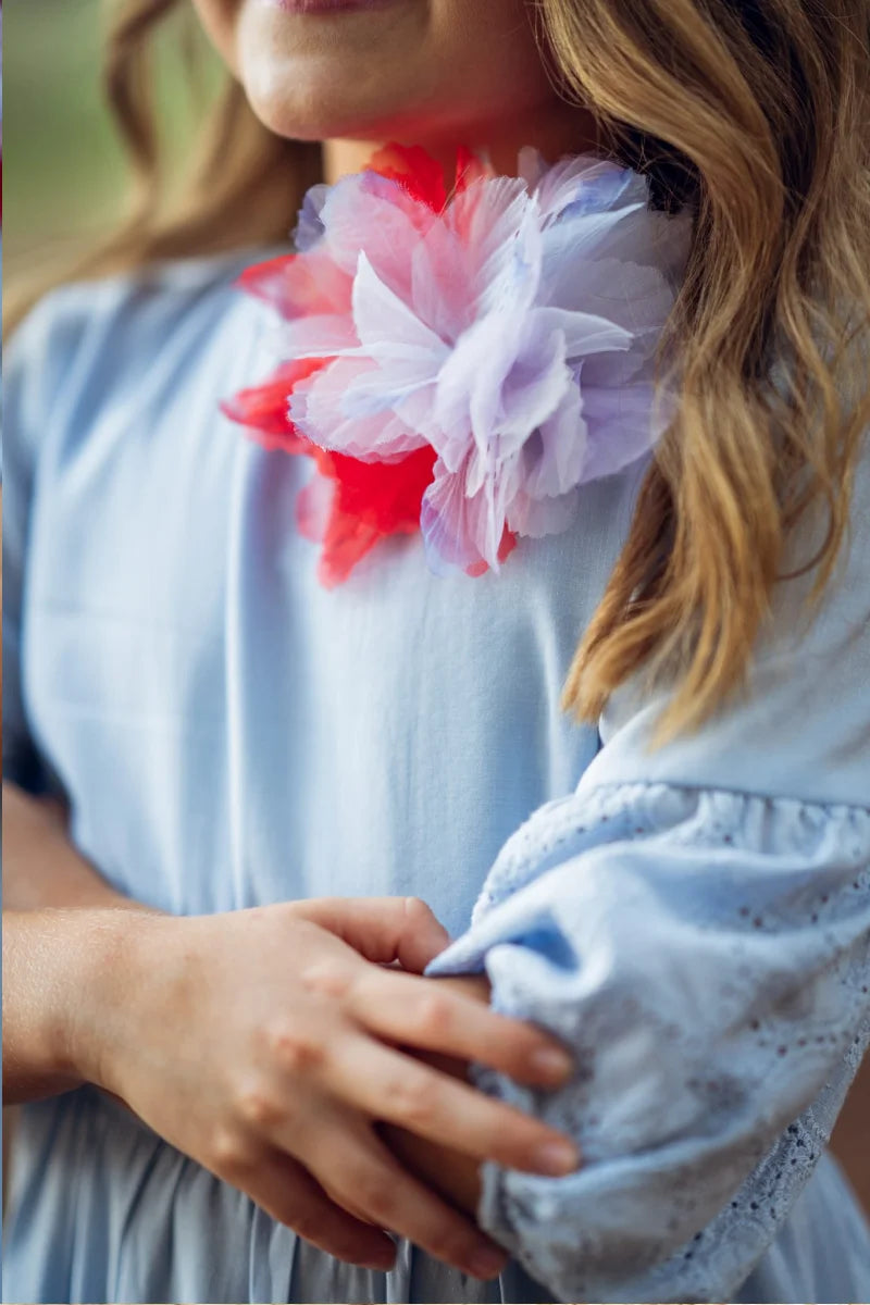
[[305,1164],[334,1201],[408,1237],[437,1259],[476,1278],[494,1278],[507,1262],[505,1251],[471,1219],[407,1173],[374,1131],[353,1122],[352,1116],[333,1128],[312,1130],[303,1150]]

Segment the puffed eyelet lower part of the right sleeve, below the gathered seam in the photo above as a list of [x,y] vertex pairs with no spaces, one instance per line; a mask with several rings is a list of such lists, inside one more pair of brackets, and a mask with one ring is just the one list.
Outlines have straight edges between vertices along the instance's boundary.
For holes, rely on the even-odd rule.
[[484,967],[497,1010],[570,1040],[552,1098],[475,1081],[584,1164],[485,1163],[481,1227],[560,1300],[733,1298],[870,1036],[870,812],[617,786],[544,813],[488,889],[434,970]]

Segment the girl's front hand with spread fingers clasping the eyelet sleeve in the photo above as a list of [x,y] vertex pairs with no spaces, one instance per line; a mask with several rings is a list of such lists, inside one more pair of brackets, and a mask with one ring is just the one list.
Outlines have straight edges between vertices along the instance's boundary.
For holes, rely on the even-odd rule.
[[[575,1168],[569,1139],[397,1049],[473,1056],[537,1086],[570,1073],[541,1031],[419,976],[447,936],[416,899],[132,919],[90,1018],[83,1001],[86,1077],[323,1250],[387,1267],[387,1228],[477,1276],[503,1265],[403,1169],[376,1121],[518,1169]],[[537,1067],[541,1052],[556,1062]],[[558,1164],[539,1158],[554,1144]],[[487,1250],[489,1265],[475,1258]]]

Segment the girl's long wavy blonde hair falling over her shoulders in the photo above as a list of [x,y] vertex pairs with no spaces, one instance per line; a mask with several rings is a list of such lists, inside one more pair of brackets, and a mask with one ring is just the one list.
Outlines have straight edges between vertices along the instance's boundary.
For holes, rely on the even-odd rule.
[[[318,147],[270,133],[228,81],[164,215],[149,60],[179,3],[120,0],[107,90],[134,205],[70,275],[283,240],[318,175]],[[827,517],[814,598],[847,532],[870,427],[870,0],[536,0],[536,16],[561,93],[653,202],[695,214],[667,342],[680,412],[563,693],[595,720],[635,673],[668,681],[664,739],[743,684],[798,519]]]

